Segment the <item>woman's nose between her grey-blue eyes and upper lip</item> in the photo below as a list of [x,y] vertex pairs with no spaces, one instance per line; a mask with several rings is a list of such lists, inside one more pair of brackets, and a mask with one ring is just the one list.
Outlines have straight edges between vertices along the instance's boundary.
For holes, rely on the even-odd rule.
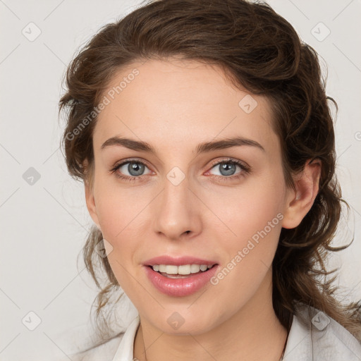
[[202,228],[202,202],[189,188],[188,178],[175,185],[168,178],[164,189],[153,202],[154,231],[165,239],[180,240],[199,234]]

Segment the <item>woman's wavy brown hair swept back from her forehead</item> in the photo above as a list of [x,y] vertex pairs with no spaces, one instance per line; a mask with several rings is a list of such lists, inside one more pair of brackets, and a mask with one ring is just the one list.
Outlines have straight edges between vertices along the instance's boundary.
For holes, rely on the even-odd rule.
[[[272,265],[274,310],[289,329],[296,306],[310,305],[361,339],[361,306],[336,300],[337,288],[331,284],[336,276],[328,277],[336,270],[326,271],[324,264],[330,252],[348,247],[331,247],[342,203],[348,207],[335,175],[328,101],[336,110],[337,104],[326,96],[316,51],[269,5],[244,0],[159,0],[102,27],[68,66],[67,90],[59,102],[59,112],[68,110],[63,148],[71,175],[82,181],[92,175],[92,132],[97,118],[76,136],[74,130],[99,104],[112,77],[133,61],[171,56],[221,66],[235,86],[269,99],[287,185],[294,188],[291,175],[302,171],[307,160],[321,159],[319,192],[312,209],[298,227],[281,231]],[[90,168],[84,166],[85,161]],[[103,309],[119,290],[108,259],[96,252],[99,244],[102,233],[93,227],[83,257],[100,289],[97,321],[101,314],[105,320]],[[104,271],[105,283],[100,281]]]

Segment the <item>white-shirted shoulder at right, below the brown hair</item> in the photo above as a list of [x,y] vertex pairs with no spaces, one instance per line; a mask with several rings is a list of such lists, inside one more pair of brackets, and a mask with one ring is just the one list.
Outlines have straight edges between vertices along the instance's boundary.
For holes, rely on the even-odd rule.
[[284,360],[360,361],[361,343],[324,312],[302,307],[293,316]]

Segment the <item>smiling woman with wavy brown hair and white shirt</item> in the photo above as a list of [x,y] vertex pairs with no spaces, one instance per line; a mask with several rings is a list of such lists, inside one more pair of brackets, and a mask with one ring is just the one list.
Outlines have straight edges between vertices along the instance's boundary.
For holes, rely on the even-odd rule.
[[[336,300],[324,267],[344,248],[330,245],[333,99],[285,19],[242,0],[152,1],[95,35],[66,87],[102,336],[77,360],[361,359],[360,305]],[[111,335],[122,291],[139,315]]]

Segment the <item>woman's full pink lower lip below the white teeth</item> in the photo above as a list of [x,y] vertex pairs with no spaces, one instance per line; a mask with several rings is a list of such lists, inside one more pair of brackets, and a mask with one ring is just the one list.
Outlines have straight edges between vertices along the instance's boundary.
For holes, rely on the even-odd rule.
[[183,297],[192,295],[192,293],[196,293],[197,290],[204,287],[209,280],[212,279],[214,274],[216,274],[219,265],[216,264],[211,269],[199,274],[190,274],[189,277],[184,279],[169,279],[154,271],[152,267],[144,267],[148,279],[153,283],[153,286],[157,288],[157,290],[169,296]]

